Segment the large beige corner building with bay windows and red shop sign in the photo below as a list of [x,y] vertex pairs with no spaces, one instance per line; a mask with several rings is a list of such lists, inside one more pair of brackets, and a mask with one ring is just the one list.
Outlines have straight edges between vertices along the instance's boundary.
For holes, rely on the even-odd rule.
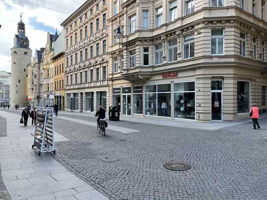
[[252,103],[266,112],[266,1],[109,3],[109,101],[121,114],[232,121]]

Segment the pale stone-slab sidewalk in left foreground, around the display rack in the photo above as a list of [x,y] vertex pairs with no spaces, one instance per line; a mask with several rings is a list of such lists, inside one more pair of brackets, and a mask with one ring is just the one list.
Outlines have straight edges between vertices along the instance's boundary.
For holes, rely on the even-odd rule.
[[[0,111],[0,116],[7,124],[7,137],[0,137],[1,175],[12,200],[108,200],[49,154],[38,156],[31,149],[34,126],[20,125],[17,114]],[[56,134],[56,142],[66,140]]]

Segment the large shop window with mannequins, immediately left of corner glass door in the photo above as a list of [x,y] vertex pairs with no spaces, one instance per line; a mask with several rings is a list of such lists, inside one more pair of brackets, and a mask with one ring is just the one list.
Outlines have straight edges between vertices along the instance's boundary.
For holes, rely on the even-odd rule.
[[195,82],[174,84],[174,117],[195,119]]

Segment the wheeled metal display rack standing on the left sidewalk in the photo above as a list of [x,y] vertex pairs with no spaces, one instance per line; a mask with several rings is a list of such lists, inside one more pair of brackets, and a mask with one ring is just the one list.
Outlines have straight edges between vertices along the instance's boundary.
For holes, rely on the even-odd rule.
[[31,147],[36,146],[39,149],[39,156],[41,153],[46,152],[54,152],[56,154],[53,107],[37,108],[35,131],[31,135],[34,137]]

